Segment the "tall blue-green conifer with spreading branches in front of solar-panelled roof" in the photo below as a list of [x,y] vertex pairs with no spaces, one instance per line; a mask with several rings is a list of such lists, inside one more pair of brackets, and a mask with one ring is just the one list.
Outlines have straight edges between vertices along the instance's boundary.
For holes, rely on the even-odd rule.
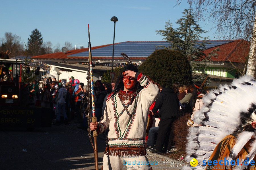
[[[206,33],[196,22],[190,9],[184,9],[183,18],[176,21],[179,25],[174,29],[170,20],[166,22],[165,30],[156,31],[157,34],[164,36],[164,40],[170,42],[171,46],[164,47],[172,50],[179,50],[187,57],[190,62],[192,72],[200,72],[201,75],[193,74],[193,81],[203,81],[207,74],[204,68],[207,67],[207,62],[211,57],[216,55],[213,51],[210,55],[205,56],[203,50],[206,49],[208,37],[201,37],[202,33]],[[203,39],[203,40],[202,40]],[[202,40],[200,42],[197,42]]]

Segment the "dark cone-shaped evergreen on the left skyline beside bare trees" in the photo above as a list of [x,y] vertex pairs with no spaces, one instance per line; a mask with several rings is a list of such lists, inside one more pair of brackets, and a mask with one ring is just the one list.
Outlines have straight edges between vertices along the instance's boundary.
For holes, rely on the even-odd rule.
[[45,54],[43,45],[43,37],[38,29],[31,31],[31,34],[28,38],[28,54],[33,56],[38,56]]

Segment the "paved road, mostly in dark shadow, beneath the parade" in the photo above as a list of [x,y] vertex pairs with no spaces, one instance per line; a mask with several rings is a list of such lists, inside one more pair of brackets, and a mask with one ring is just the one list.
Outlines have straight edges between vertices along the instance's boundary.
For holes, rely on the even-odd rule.
[[[68,170],[94,169],[94,154],[86,131],[69,126],[37,128],[33,132],[25,128],[0,129],[1,170]],[[106,143],[98,137],[99,167]],[[158,154],[149,154],[149,161],[158,162],[154,170],[175,169],[179,163]]]

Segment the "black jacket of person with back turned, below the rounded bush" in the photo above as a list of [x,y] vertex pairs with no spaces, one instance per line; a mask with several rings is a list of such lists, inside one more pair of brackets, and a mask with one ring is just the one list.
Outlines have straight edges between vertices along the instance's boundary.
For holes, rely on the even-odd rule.
[[161,90],[160,97],[156,99],[152,112],[156,113],[158,109],[161,120],[174,118],[179,115],[179,99],[172,89],[164,88]]

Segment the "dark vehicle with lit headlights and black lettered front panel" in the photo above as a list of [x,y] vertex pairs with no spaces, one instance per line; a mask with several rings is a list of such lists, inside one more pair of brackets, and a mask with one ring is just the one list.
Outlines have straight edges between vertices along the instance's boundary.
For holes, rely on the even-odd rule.
[[24,105],[25,84],[22,82],[22,60],[0,59],[0,65],[9,68],[11,81],[0,81],[1,127],[51,127],[51,108]]

